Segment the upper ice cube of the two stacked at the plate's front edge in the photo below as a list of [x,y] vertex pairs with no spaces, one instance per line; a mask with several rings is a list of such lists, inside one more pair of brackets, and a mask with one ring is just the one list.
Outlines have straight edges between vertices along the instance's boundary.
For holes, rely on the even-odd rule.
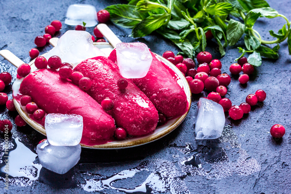
[[83,117],[80,115],[48,114],[45,132],[50,144],[56,146],[78,145],[82,138]]

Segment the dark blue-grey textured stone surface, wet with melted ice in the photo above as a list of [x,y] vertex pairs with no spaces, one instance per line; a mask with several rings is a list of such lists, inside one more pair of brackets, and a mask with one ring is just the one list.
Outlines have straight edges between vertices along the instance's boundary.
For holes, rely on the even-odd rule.
[[[0,1],[0,49],[8,49],[25,62],[29,62],[28,51],[35,47],[36,35],[44,34],[46,25],[54,19],[64,22],[65,12],[72,3],[88,3],[100,10],[107,5],[120,1]],[[290,1],[268,1],[275,8],[291,19]],[[262,38],[268,39],[270,29],[278,31],[284,24],[283,19],[259,19],[255,24]],[[165,50],[175,53],[178,49],[168,40],[153,34],[144,38],[128,37],[129,29],[123,29],[109,23],[109,27],[124,42],[140,41],[146,43],[152,51],[162,54]],[[63,25],[59,37],[66,30],[73,29]],[[87,28],[93,34],[93,28]],[[209,43],[207,51],[214,58],[220,58],[217,46]],[[243,46],[241,40],[237,45],[228,47],[226,56],[221,58],[222,71],[229,73],[229,66],[239,56],[236,47]],[[52,47],[47,45],[40,49],[45,53]],[[215,141],[196,141],[194,138],[194,116],[197,100],[202,95],[192,96],[192,105],[185,121],[171,134],[147,145],[121,150],[82,149],[79,163],[65,175],[56,175],[44,168],[38,169],[37,181],[25,182],[21,177],[9,177],[13,181],[9,190],[4,189],[0,181],[0,193],[116,193],[120,188],[133,189],[135,193],[290,193],[291,192],[291,131],[290,131],[290,56],[287,43],[281,44],[278,60],[263,60],[260,67],[250,77],[246,85],[239,84],[237,77],[232,77],[228,94],[233,104],[239,105],[245,97],[258,89],[267,92],[267,99],[252,108],[241,120],[233,121],[226,115],[226,127],[223,136]],[[16,68],[0,57],[0,72],[8,71],[16,78]],[[10,99],[11,86],[6,92]],[[1,120],[14,120],[17,113],[8,112],[5,106],[0,107]],[[279,123],[285,126],[286,134],[282,140],[275,141],[269,134],[272,125]],[[11,152],[20,148],[21,143],[35,153],[38,141],[44,138],[31,127],[16,127],[13,124]],[[16,139],[16,140],[15,140]],[[0,138],[3,151],[4,136]],[[188,149],[187,149],[188,148]],[[190,149],[191,148],[191,149]],[[27,149],[28,150],[28,149]],[[29,151],[29,150],[28,150]],[[31,154],[31,151],[30,154]],[[28,153],[28,152],[27,152]],[[0,167],[4,166],[3,153]],[[16,158],[24,163],[26,152]],[[193,158],[193,159],[191,159]],[[12,157],[10,158],[13,159]],[[186,161],[183,165],[181,162]],[[34,161],[38,164],[38,159]],[[198,168],[197,168],[198,167]],[[200,168],[202,167],[202,168]],[[16,169],[10,163],[10,171]],[[128,170],[130,169],[130,170]],[[124,171],[125,170],[125,171]],[[123,172],[121,172],[123,171]],[[32,175],[37,172],[30,170]],[[119,173],[121,172],[121,173]],[[134,175],[134,172],[136,174]],[[119,173],[119,174],[118,174]],[[131,175],[129,175],[131,174]],[[128,175],[127,179],[125,175]],[[134,176],[133,176],[134,175]],[[5,176],[3,173],[1,177]],[[132,177],[130,177],[132,176]],[[111,186],[108,182],[111,183]],[[115,181],[114,181],[115,180]],[[99,181],[99,182],[98,182]],[[103,188],[98,186],[103,181]],[[89,183],[95,183],[95,187]],[[86,184],[87,183],[87,184]],[[105,184],[108,184],[107,186]],[[140,186],[141,185],[141,186]],[[111,188],[109,188],[109,186]],[[99,191],[98,191],[99,190]],[[133,192],[133,190],[127,190]]]

